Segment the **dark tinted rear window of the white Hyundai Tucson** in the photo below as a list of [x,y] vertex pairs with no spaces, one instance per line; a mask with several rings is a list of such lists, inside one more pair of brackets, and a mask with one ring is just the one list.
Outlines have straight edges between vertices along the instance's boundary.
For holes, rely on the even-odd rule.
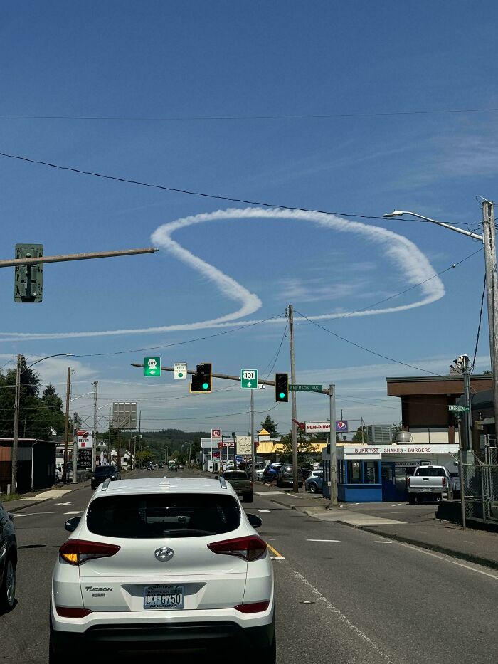
[[90,503],[87,515],[90,532],[133,539],[203,537],[239,525],[237,501],[217,494],[105,496]]

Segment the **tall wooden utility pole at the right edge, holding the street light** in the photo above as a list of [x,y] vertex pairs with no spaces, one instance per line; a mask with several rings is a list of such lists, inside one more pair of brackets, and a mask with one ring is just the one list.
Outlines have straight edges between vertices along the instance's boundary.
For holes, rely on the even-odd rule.
[[494,230],[494,204],[482,202],[482,243],[486,265],[487,317],[489,326],[489,357],[493,380],[494,421],[498,423],[498,276],[497,247]]

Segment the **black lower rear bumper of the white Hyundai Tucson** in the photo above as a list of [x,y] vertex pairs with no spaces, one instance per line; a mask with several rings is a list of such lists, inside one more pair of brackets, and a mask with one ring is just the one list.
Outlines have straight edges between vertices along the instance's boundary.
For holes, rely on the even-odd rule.
[[165,623],[128,625],[98,625],[85,632],[62,632],[51,630],[52,648],[56,653],[69,653],[72,648],[80,651],[98,645],[112,650],[157,650],[158,648],[208,648],[220,642],[233,642],[240,648],[265,648],[272,644],[275,621],[258,627],[243,628],[231,621],[203,623]]

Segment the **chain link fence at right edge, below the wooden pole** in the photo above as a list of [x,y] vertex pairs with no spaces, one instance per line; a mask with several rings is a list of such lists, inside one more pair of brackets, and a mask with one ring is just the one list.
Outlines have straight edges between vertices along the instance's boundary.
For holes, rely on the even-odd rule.
[[498,450],[494,436],[487,436],[484,460],[471,450],[462,450],[462,500],[466,518],[498,522]]

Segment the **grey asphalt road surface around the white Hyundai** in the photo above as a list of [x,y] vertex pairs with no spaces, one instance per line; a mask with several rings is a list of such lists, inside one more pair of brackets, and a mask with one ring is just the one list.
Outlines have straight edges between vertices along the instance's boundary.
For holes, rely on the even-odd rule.
[[[247,511],[263,518],[274,549],[279,664],[497,661],[495,571],[316,520],[272,502],[275,489],[255,490],[263,495]],[[16,512],[18,604],[0,616],[0,662],[48,661],[53,563],[65,520],[90,493]]]

